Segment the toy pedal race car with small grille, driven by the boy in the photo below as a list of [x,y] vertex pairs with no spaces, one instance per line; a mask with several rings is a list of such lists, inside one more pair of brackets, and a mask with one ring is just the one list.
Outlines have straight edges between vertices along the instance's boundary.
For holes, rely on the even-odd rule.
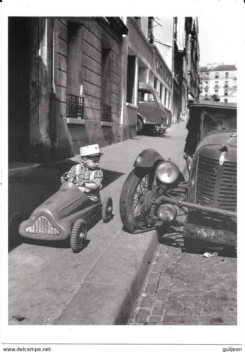
[[[65,172],[79,176],[74,172]],[[70,236],[71,249],[78,252],[83,249],[87,237],[86,223],[101,212],[103,222],[112,219],[112,198],[103,201],[99,191],[88,196],[78,189],[76,184],[67,180],[59,190],[42,203],[30,218],[21,222],[19,234],[38,240],[64,240]]]

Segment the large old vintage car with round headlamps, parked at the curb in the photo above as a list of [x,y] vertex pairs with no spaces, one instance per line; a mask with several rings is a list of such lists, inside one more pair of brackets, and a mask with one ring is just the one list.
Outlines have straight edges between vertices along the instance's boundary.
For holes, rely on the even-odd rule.
[[[153,149],[141,152],[120,196],[121,220],[140,233],[183,221],[186,243],[210,251],[237,246],[237,105],[200,100],[188,105],[184,155],[189,179]],[[189,168],[188,160],[191,160]]]

